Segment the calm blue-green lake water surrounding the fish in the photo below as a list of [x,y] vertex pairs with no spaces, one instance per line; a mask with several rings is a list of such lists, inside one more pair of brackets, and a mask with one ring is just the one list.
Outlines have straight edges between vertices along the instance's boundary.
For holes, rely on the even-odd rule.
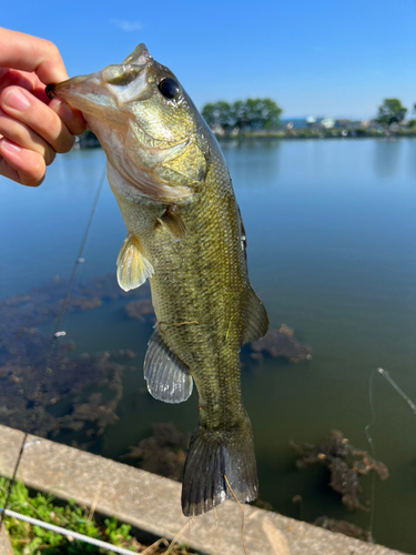
[[[369,514],[341,504],[326,470],[296,470],[288,442],[317,444],[337,428],[369,450],[368,383],[377,367],[416,402],[416,141],[270,140],[230,142],[223,151],[247,233],[251,282],[271,327],[285,323],[313,354],[301,364],[266,359],[243,367],[261,497],[290,516],[312,522],[326,514],[367,528]],[[39,189],[0,179],[0,300],[70,278],[103,165],[101,150],[73,151],[58,158]],[[105,184],[77,283],[114,272],[124,236]],[[115,460],[150,435],[151,423],[185,432],[197,417],[195,396],[171,406],[142,392],[151,324],[129,319],[126,302],[67,313],[62,324],[74,354],[138,353],[130,364],[136,371],[124,373],[120,420],[91,447]],[[376,480],[373,535],[416,553],[416,415],[379,374],[373,398],[376,455],[390,472]],[[363,485],[365,502],[371,480]]]

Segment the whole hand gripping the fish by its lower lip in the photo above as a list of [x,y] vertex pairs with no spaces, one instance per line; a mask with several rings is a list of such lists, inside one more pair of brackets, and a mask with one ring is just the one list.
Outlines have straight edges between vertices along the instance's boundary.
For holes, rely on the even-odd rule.
[[57,152],[85,129],[81,112],[49,100],[44,88],[68,79],[51,42],[0,28],[0,174],[38,186]]

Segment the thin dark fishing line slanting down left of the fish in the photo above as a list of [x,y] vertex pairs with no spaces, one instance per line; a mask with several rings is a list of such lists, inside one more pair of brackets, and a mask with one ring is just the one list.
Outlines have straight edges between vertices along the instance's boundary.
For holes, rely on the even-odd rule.
[[23,456],[24,448],[27,446],[26,442],[28,440],[29,434],[31,433],[31,431],[34,427],[35,420],[37,420],[37,416],[38,416],[40,407],[41,407],[41,400],[42,400],[42,397],[44,396],[44,393],[45,393],[43,390],[44,390],[44,385],[45,385],[45,382],[47,382],[47,376],[48,376],[48,374],[50,374],[52,372],[52,370],[51,370],[51,362],[52,362],[52,356],[53,356],[53,353],[54,353],[54,347],[55,347],[55,344],[57,344],[57,340],[59,337],[65,335],[65,332],[62,332],[62,330],[61,330],[61,325],[62,325],[63,316],[65,315],[65,312],[67,312],[68,302],[69,302],[71,292],[72,292],[72,287],[73,287],[74,281],[75,281],[78,268],[79,268],[80,264],[82,264],[84,262],[84,259],[82,258],[82,253],[83,253],[83,250],[84,250],[84,246],[85,246],[85,243],[87,243],[87,238],[88,238],[88,235],[90,233],[92,219],[93,219],[95,210],[97,210],[97,204],[98,204],[99,199],[100,199],[100,194],[101,194],[101,191],[102,191],[102,188],[103,188],[103,184],[104,184],[104,180],[105,180],[105,169],[104,169],[104,171],[102,173],[102,176],[101,176],[101,179],[99,181],[99,186],[98,186],[98,190],[97,190],[97,193],[95,193],[95,198],[94,198],[94,201],[93,201],[93,204],[92,204],[92,209],[91,209],[91,212],[90,212],[90,218],[89,218],[89,221],[87,223],[87,228],[85,228],[82,241],[81,241],[81,246],[80,246],[78,256],[75,259],[75,263],[74,263],[74,266],[73,266],[71,280],[70,280],[70,283],[69,283],[68,289],[67,289],[67,294],[65,294],[65,296],[63,299],[63,303],[61,305],[61,310],[58,313],[57,324],[55,324],[55,331],[54,331],[54,333],[52,335],[52,342],[51,342],[51,346],[50,346],[48,355],[47,355],[44,371],[43,371],[41,381],[39,383],[37,394],[34,396],[33,410],[32,410],[31,418],[30,418],[28,425],[26,426],[27,430],[24,432],[24,436],[23,436],[23,440],[22,440],[22,443],[21,443],[21,446],[20,446],[18,460],[17,460],[16,465],[14,465],[13,475],[12,475],[11,480],[9,481],[9,486],[8,486],[8,492],[7,492],[7,495],[6,495],[4,506],[2,507],[2,509],[0,509],[0,527],[1,527],[1,525],[3,523],[3,519],[4,519],[4,513],[6,513],[6,509],[8,507],[9,501],[10,501],[11,490],[12,490],[14,483],[16,483],[16,478],[17,478],[19,466],[20,466],[20,462],[21,462],[21,458]]

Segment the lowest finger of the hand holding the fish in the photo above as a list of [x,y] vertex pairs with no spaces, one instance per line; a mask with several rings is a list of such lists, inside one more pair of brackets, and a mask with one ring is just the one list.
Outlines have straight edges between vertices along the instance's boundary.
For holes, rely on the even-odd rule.
[[44,179],[43,158],[31,150],[21,149],[7,139],[0,140],[0,174],[22,185],[38,186]]

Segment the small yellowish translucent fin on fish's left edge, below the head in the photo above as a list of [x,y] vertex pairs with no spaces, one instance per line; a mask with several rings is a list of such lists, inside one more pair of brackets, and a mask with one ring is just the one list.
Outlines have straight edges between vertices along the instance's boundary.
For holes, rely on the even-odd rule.
[[142,254],[139,239],[129,233],[116,259],[116,279],[124,291],[140,287],[154,273],[152,264]]

